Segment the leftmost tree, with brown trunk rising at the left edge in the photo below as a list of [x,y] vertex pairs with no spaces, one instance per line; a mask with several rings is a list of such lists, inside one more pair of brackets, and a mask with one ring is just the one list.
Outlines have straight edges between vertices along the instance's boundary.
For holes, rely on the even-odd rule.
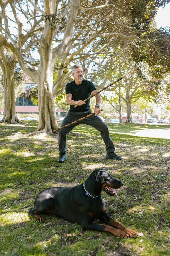
[[[6,40],[13,42],[17,47],[22,48],[26,37],[22,34],[22,23],[17,18],[17,13],[14,8],[14,1],[11,1],[11,8],[13,11],[13,15],[16,18],[16,24],[18,25],[18,40],[17,37],[12,36],[10,34],[10,18],[7,16],[5,8],[7,7],[8,2],[0,2],[1,7],[1,16],[0,16],[0,32],[4,35]],[[29,31],[30,32],[30,31]],[[28,36],[28,35],[27,35]],[[10,47],[9,47],[10,48]],[[12,50],[13,51],[13,50]],[[19,118],[16,116],[15,111],[15,80],[20,82],[23,80],[23,73],[20,73],[20,76],[17,79],[16,75],[18,71],[16,71],[16,63],[17,57],[12,52],[9,51],[8,47],[1,45],[0,46],[0,66],[3,72],[3,88],[4,88],[4,116],[1,122],[5,123],[21,123]],[[24,54],[22,52],[22,54]],[[18,85],[18,83],[17,83]]]

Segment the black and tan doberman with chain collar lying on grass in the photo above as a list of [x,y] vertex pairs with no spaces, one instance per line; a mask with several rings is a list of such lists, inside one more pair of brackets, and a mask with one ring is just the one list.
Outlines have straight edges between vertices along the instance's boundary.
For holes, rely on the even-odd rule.
[[[72,188],[47,188],[41,191],[36,196],[30,214],[37,221],[43,222],[44,219],[39,213],[52,213],[67,221],[79,223],[82,230],[100,230],[120,238],[136,238],[138,235],[135,231],[125,228],[107,214],[101,197],[102,191],[118,197],[115,188],[122,185],[123,182],[112,177],[107,171],[95,169],[81,185]],[[94,223],[97,218],[106,225]]]

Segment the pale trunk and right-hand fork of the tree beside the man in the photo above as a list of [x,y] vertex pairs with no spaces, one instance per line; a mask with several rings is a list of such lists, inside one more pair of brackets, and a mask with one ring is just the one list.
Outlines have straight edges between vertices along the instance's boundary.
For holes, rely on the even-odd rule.
[[52,133],[53,130],[59,128],[56,121],[56,113],[53,99],[53,69],[55,60],[63,56],[69,50],[72,41],[72,32],[75,20],[79,10],[80,0],[70,1],[70,10],[68,22],[65,29],[62,43],[58,45],[54,51],[52,50],[52,41],[56,34],[56,24],[48,21],[56,10],[56,1],[45,1],[45,13],[49,13],[43,31],[43,37],[40,45],[40,67],[38,70],[38,108],[39,108],[39,124],[37,131]]

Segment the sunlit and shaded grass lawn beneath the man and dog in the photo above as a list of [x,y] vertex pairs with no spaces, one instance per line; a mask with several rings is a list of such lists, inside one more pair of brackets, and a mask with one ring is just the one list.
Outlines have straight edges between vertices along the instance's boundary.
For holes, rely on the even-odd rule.
[[[77,126],[67,137],[67,161],[57,162],[58,135],[33,133],[38,121],[0,124],[0,255],[169,255],[169,142],[138,137],[143,129],[169,125],[108,124],[122,161],[105,159],[98,131]],[[82,183],[95,168],[123,181],[118,199],[103,192],[109,215],[136,230],[137,239],[82,232],[79,224],[45,215],[38,223],[28,214],[39,191]]]

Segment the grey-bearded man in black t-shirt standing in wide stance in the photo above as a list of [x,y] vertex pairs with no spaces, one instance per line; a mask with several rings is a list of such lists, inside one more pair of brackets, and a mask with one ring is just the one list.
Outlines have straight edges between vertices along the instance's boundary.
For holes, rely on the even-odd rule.
[[[98,91],[94,84],[90,81],[83,79],[83,68],[81,65],[74,65],[72,67],[72,75],[74,81],[66,85],[66,99],[67,104],[70,105],[70,110],[68,111],[66,117],[63,120],[62,126],[70,124],[86,115],[89,115],[90,110],[90,100],[84,102],[84,99],[90,97],[91,93],[96,94]],[[121,160],[122,158],[115,154],[115,148],[110,137],[107,125],[98,116],[100,114],[100,103],[101,97],[99,94],[95,95],[96,105],[94,109],[95,116],[88,117],[81,121],[82,124],[91,125],[100,131],[100,134],[106,145],[106,159]],[[77,108],[74,106],[78,105]],[[63,163],[66,158],[66,134],[69,133],[75,126],[79,123],[69,125],[68,127],[59,131],[59,151],[60,157],[58,158],[59,163]]]

